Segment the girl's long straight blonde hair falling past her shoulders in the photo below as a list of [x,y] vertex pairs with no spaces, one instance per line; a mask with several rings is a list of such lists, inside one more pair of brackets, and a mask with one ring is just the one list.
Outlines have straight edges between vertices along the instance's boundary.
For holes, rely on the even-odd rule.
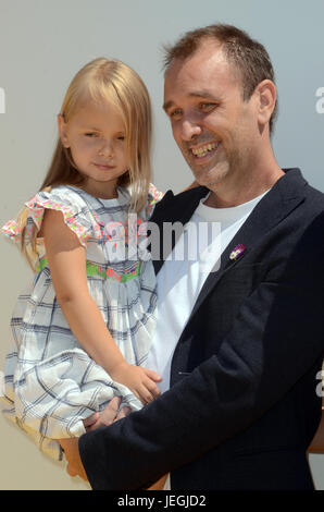
[[[151,102],[148,90],[139,75],[119,60],[98,58],[82,68],[72,80],[61,108],[65,123],[74,115],[77,107],[87,100],[100,105],[112,102],[120,111],[126,132],[126,147],[129,167],[119,179],[119,185],[128,186],[130,192],[129,209],[139,211],[146,204],[151,178]],[[39,191],[50,191],[58,185],[82,185],[84,176],[78,172],[70,148],[58,138],[52,160]],[[17,218],[21,229],[21,249],[34,268],[37,256],[37,230],[25,244],[28,208]]]

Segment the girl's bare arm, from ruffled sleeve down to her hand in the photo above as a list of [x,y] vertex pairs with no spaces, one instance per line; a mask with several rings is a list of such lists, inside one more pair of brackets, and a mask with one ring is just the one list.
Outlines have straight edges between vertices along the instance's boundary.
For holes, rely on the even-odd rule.
[[80,345],[144,403],[159,394],[155,371],[126,363],[88,290],[86,252],[60,211],[46,210],[42,235],[58,302]]

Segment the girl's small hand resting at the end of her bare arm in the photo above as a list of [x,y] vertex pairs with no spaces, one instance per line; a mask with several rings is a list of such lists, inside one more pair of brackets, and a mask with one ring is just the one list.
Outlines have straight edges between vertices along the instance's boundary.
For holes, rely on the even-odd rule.
[[115,366],[110,375],[116,382],[127,386],[142,404],[152,402],[160,394],[155,382],[160,382],[162,379],[157,371],[151,369],[123,362]]

